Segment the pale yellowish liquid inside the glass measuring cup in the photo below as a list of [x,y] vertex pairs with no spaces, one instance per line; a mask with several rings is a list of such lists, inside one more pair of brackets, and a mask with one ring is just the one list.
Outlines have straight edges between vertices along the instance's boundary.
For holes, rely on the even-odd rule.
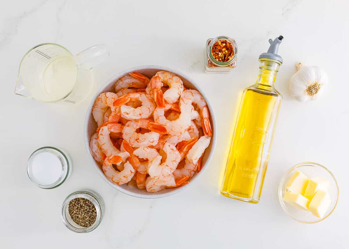
[[77,80],[77,66],[72,56],[53,59],[42,76],[42,96],[44,101],[57,101],[66,97]]

